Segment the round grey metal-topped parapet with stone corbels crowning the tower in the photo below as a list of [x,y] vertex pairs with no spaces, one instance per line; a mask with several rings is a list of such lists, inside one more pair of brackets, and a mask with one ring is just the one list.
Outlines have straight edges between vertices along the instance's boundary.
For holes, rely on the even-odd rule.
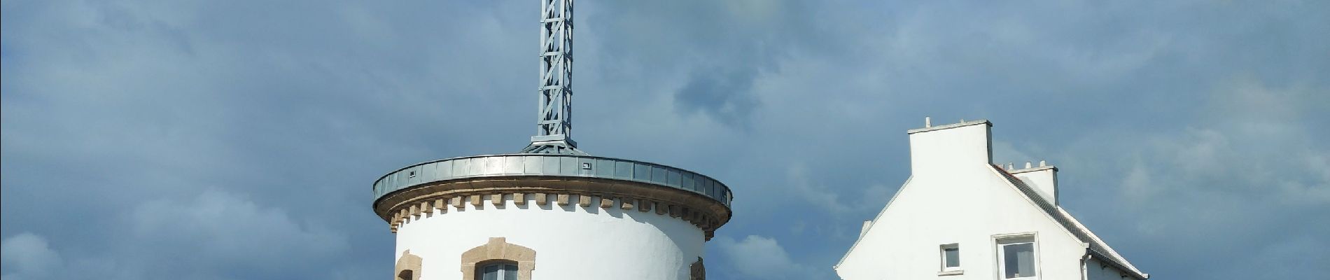
[[701,227],[708,239],[729,222],[734,198],[725,183],[684,169],[572,154],[450,158],[407,166],[374,182],[374,211],[394,232],[422,214],[432,215],[435,208],[459,208],[484,199],[567,204],[571,196],[581,206],[680,216]]

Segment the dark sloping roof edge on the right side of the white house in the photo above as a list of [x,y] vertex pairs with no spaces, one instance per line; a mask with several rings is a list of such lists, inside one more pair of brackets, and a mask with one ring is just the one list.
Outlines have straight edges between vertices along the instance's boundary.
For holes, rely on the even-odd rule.
[[1136,269],[1136,267],[1133,267],[1132,263],[1128,263],[1127,259],[1123,259],[1121,255],[1117,255],[1117,251],[1113,251],[1113,248],[1108,247],[1108,243],[1104,243],[1104,240],[1099,239],[1099,236],[1096,236],[1095,232],[1091,232],[1088,228],[1085,228],[1084,224],[1076,220],[1076,218],[1072,218],[1072,215],[1068,214],[1065,210],[1063,210],[1063,207],[1049,203],[1048,199],[1044,199],[1043,195],[1035,192],[1033,187],[1029,187],[1029,184],[1025,184],[1024,180],[1020,180],[1016,176],[1011,175],[1011,173],[1007,173],[1007,170],[1003,170],[1000,166],[990,165],[990,167],[992,167],[992,170],[996,171],[999,175],[1005,178],[1007,182],[1012,184],[1012,187],[1016,187],[1016,190],[1019,190],[1021,195],[1024,195],[1027,199],[1035,203],[1035,206],[1039,206],[1039,208],[1043,210],[1044,214],[1048,214],[1048,216],[1053,218],[1053,220],[1061,224],[1063,228],[1067,228],[1067,231],[1069,231],[1073,236],[1076,236],[1076,239],[1080,239],[1080,242],[1089,244],[1088,249],[1091,252],[1088,253],[1100,256],[1101,259],[1104,259],[1105,263],[1121,268],[1123,271],[1130,272],[1132,277],[1149,279],[1149,275],[1141,273],[1140,269]]

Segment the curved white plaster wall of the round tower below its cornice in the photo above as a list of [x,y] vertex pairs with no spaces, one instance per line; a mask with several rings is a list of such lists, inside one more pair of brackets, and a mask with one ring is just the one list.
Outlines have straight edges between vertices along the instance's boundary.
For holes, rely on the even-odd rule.
[[576,195],[568,206],[539,206],[531,196],[517,206],[511,198],[504,206],[487,198],[479,210],[450,206],[403,224],[394,260],[411,249],[423,259],[422,280],[458,280],[463,252],[507,238],[536,251],[532,279],[688,279],[689,265],[704,255],[702,230],[654,210],[583,207]]

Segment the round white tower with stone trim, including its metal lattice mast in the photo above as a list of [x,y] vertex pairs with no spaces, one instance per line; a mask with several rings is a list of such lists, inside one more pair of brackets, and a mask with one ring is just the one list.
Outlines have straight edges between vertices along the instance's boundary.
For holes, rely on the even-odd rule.
[[519,154],[407,166],[374,182],[396,234],[394,279],[705,279],[729,187],[664,165],[592,157],[572,130],[572,0],[541,7],[540,119]]

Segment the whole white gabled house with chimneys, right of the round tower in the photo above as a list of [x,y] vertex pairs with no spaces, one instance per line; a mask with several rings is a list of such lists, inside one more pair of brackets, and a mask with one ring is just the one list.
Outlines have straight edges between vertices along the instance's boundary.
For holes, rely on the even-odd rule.
[[1057,167],[992,163],[988,121],[910,130],[911,175],[834,267],[843,280],[1148,279],[1057,203]]

